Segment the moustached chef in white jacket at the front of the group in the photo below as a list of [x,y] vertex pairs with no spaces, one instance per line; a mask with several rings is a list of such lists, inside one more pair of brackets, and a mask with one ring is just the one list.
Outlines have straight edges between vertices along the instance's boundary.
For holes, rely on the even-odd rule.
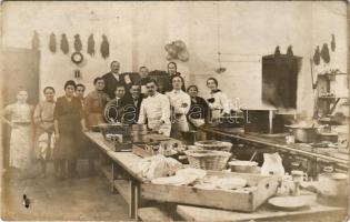
[[167,95],[157,92],[156,80],[146,83],[148,97],[143,99],[140,108],[139,124],[148,121],[148,128],[163,135],[170,137],[170,102]]

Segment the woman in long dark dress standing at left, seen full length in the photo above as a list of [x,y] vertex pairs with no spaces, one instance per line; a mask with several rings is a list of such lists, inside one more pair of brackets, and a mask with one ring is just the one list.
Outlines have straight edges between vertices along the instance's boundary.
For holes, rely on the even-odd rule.
[[54,133],[58,141],[54,158],[58,160],[59,179],[72,175],[72,161],[79,145],[78,139],[81,138],[82,130],[87,130],[81,102],[74,97],[74,90],[76,82],[67,81],[66,95],[57,99],[53,112]]

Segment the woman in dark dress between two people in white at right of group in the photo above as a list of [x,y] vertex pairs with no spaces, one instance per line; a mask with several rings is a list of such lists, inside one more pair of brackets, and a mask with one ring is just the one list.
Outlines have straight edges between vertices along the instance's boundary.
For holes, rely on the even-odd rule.
[[187,88],[187,93],[191,97],[191,107],[188,112],[188,119],[191,123],[192,129],[199,127],[200,124],[208,122],[208,111],[209,107],[207,101],[198,97],[198,87],[190,85]]

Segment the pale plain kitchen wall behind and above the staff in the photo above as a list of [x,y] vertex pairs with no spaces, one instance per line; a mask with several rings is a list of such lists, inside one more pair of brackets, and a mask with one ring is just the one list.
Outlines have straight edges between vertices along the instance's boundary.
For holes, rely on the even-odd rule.
[[[276,46],[286,53],[291,44],[294,54],[303,57],[298,82],[299,111],[312,112],[309,60],[316,46],[329,43],[332,33],[337,50],[328,68],[347,70],[346,3],[341,1],[6,2],[3,6],[3,46],[29,48],[33,30],[40,34],[41,85],[61,89],[76,69],[70,57],[48,51],[51,32],[67,33],[71,44],[73,36],[80,33],[83,50],[91,32],[99,40],[98,46],[100,36],[108,36],[111,44],[108,60],[84,53],[87,63],[80,68],[81,82],[89,87],[94,77],[108,71],[109,62],[114,59],[121,61],[123,71],[137,71],[139,65],[164,70],[168,61],[163,47],[177,39],[187,43],[190,53],[189,62],[178,62],[188,83],[199,84],[206,95],[204,80],[214,75],[223,91],[232,99],[240,98],[247,107],[263,107],[261,57],[273,53]],[[91,21],[94,18],[91,11],[98,20]],[[218,39],[224,53],[222,60],[229,61],[222,62],[227,68],[222,74],[214,72],[219,65]],[[317,71],[327,68],[320,67]]]

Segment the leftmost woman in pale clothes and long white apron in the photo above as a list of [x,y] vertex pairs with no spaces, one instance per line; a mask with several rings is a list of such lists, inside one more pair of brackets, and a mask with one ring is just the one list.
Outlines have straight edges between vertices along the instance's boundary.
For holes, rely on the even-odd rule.
[[28,169],[33,145],[33,107],[27,103],[28,92],[20,90],[17,102],[4,108],[3,121],[11,127],[10,167],[20,170]]

